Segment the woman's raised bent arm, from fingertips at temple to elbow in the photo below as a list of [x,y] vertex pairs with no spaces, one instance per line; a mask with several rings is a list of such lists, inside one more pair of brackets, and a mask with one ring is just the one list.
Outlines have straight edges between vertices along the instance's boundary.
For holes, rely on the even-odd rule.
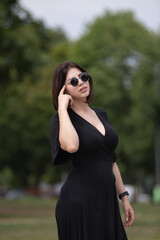
[[63,150],[73,153],[79,148],[79,137],[67,112],[68,104],[72,105],[73,99],[64,91],[65,85],[58,97],[59,142]]

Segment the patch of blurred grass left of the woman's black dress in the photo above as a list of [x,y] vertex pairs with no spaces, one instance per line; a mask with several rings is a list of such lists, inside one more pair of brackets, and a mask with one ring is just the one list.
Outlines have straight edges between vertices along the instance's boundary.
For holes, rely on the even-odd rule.
[[55,204],[41,198],[0,200],[0,239],[57,240]]

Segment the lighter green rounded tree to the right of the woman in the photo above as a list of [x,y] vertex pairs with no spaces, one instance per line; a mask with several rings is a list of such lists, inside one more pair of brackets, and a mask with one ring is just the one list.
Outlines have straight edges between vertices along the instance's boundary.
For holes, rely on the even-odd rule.
[[119,134],[118,162],[128,181],[154,174],[154,65],[160,36],[132,12],[106,12],[86,26],[70,58],[94,79],[93,105],[107,110]]

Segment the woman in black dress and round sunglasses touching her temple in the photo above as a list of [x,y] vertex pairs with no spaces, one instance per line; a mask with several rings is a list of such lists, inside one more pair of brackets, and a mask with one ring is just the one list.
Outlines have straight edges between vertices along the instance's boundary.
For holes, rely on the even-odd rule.
[[53,164],[72,164],[56,205],[59,240],[126,240],[124,226],[133,223],[134,212],[116,164],[118,135],[107,113],[88,105],[92,78],[80,65],[63,62],[52,94],[58,111],[50,120]]

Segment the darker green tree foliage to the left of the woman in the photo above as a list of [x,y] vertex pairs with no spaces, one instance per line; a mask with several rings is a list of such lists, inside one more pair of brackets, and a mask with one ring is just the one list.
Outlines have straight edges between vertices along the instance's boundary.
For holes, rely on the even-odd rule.
[[19,1],[1,1],[0,11],[0,170],[10,169],[14,186],[37,185],[51,168],[51,78],[68,40]]

